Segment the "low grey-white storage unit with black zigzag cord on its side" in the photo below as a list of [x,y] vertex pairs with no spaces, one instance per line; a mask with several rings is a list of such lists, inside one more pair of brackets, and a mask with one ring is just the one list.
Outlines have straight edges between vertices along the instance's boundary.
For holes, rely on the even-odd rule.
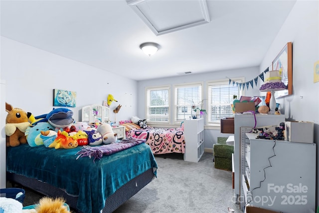
[[256,139],[246,133],[245,203],[275,212],[316,209],[316,144]]

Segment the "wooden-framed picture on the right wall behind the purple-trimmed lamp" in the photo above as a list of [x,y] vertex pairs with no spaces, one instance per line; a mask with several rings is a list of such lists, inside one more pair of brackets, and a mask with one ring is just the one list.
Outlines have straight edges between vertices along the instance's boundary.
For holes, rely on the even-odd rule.
[[276,91],[275,98],[293,94],[293,45],[288,42],[272,62],[273,70],[281,70],[281,80],[288,87]]

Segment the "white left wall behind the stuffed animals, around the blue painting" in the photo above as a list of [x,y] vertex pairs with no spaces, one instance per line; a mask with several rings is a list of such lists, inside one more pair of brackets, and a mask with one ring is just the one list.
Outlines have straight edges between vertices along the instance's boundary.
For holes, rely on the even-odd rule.
[[1,80],[6,81],[6,102],[35,116],[53,109],[53,89],[76,91],[76,121],[81,108],[102,104],[112,94],[121,110],[116,121],[128,120],[137,111],[137,81],[67,59],[1,36]]

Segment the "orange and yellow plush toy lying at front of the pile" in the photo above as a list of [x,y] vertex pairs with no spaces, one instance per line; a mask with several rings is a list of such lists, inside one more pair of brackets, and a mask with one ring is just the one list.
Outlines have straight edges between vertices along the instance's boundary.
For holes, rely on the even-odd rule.
[[55,149],[73,149],[78,146],[78,142],[75,136],[69,137],[68,133],[61,130],[58,130],[57,137],[53,141],[52,144],[48,146],[48,148],[55,148]]

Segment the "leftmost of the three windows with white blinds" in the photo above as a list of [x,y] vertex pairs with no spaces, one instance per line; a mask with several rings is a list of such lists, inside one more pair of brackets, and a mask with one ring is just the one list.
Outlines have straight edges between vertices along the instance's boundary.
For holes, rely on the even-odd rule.
[[169,86],[147,88],[147,113],[149,123],[169,123]]

